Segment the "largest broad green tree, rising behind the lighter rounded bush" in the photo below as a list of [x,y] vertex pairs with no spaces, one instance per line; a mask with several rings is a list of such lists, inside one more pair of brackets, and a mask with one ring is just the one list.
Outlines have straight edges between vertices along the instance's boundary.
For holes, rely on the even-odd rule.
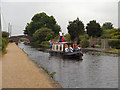
[[32,17],[31,22],[27,23],[25,27],[24,34],[32,36],[36,30],[42,27],[50,28],[54,32],[54,36],[58,35],[60,31],[60,26],[56,23],[55,18],[43,12]]

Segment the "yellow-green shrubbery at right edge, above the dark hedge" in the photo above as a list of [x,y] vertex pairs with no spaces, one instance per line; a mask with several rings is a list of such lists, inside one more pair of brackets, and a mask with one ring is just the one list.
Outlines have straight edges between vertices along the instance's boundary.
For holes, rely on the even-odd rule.
[[120,39],[120,29],[103,30],[102,38]]

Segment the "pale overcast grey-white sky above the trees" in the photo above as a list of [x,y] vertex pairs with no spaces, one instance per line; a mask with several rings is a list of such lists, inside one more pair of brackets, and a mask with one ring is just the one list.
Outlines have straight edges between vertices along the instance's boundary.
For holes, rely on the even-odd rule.
[[68,32],[69,21],[77,17],[86,26],[96,20],[101,26],[111,22],[118,28],[119,0],[1,0],[2,30],[12,25],[12,36],[22,35],[31,18],[41,12],[54,16],[62,31]]

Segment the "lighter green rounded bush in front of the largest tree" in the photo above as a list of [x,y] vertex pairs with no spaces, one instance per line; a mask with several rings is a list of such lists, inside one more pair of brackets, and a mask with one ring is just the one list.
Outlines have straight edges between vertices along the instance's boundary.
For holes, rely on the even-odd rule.
[[48,41],[53,38],[54,32],[49,28],[38,29],[34,34],[33,38],[35,41]]

